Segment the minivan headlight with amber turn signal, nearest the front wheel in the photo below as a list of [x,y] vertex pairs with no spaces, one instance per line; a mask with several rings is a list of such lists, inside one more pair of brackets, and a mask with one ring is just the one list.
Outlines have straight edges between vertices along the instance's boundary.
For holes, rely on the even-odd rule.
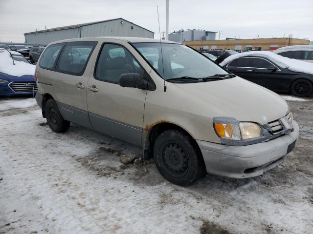
[[[215,118],[218,120],[219,118]],[[239,122],[230,119],[229,123],[224,121],[214,122],[214,129],[217,135],[228,140],[246,140],[262,137],[261,128],[256,123]]]

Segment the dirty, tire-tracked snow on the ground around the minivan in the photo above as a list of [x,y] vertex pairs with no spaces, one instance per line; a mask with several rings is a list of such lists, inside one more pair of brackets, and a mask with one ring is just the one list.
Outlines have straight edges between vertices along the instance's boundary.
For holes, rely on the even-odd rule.
[[[293,103],[305,128],[312,101]],[[141,154],[133,145],[77,125],[53,133],[32,98],[0,108],[0,233],[312,234],[312,133],[264,176],[179,187],[152,162],[121,164]]]

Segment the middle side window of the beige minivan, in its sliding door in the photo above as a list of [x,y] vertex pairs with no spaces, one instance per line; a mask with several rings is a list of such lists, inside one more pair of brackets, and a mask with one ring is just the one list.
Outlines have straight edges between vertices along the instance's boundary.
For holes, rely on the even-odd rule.
[[96,41],[68,42],[58,60],[56,71],[74,76],[83,75]]

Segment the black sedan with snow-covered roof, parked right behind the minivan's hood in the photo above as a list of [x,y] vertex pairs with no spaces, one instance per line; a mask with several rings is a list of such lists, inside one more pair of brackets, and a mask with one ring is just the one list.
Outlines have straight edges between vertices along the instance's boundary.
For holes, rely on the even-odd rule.
[[[312,95],[312,64],[302,61],[295,62],[291,59],[289,61],[286,60],[287,58],[277,56],[272,52],[246,52],[240,55],[230,56],[220,65],[241,78],[275,92],[288,92],[299,97]],[[292,70],[286,67],[288,64],[291,64],[288,68]],[[310,74],[300,72],[301,70]]]

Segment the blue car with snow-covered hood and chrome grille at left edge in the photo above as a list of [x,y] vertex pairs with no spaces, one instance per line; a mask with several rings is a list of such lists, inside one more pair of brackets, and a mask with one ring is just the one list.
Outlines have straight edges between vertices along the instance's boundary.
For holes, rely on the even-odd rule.
[[35,95],[35,66],[20,53],[0,49],[0,96]]

